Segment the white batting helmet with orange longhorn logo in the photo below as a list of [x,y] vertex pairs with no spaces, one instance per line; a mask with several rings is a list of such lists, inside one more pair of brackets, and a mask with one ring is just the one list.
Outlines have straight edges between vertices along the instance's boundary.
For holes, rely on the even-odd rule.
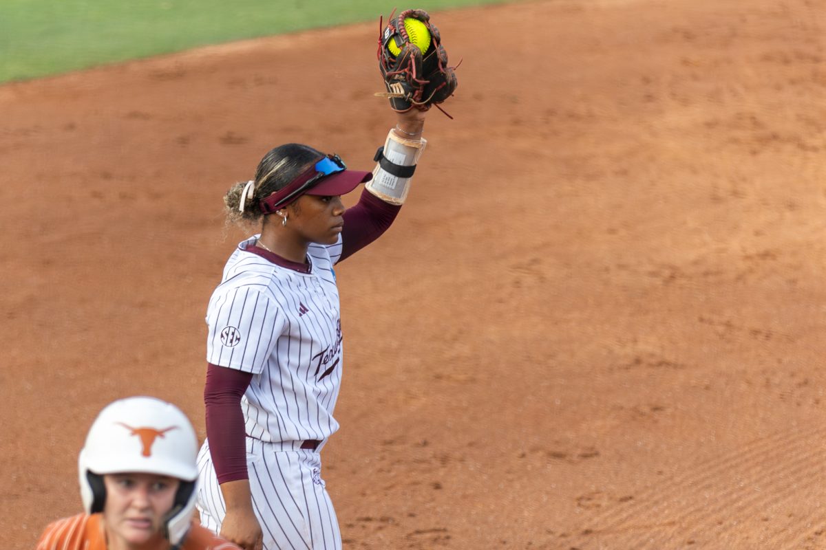
[[198,442],[192,424],[173,404],[155,397],[128,397],[104,407],[78,457],[80,496],[87,514],[103,511],[107,473],[155,473],[181,480],[164,516],[169,542],[178,546],[195,510]]

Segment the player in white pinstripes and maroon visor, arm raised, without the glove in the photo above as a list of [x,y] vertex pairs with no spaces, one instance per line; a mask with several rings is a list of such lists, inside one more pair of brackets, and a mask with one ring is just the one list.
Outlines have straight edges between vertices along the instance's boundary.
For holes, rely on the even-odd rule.
[[[288,143],[225,195],[231,222],[260,223],[207,308],[202,524],[243,548],[341,548],[320,450],[339,428],[343,370],[336,263],[396,218],[425,148],[425,112],[397,114],[370,172]],[[340,195],[367,185],[358,204]]]

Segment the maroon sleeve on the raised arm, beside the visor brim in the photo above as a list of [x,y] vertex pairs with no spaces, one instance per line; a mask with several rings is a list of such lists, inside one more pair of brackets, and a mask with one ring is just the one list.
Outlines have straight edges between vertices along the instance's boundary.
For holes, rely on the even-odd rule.
[[362,190],[357,204],[344,212],[341,232],[341,257],[344,261],[382,235],[399,213],[401,206],[386,203],[368,190]]

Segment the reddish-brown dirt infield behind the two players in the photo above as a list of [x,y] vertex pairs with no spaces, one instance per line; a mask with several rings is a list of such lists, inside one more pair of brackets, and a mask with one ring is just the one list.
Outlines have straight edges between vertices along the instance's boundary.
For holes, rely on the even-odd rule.
[[[345,547],[826,548],[826,2],[434,21],[454,120],[337,270]],[[0,87],[4,548],[79,510],[112,399],[203,436],[203,317],[244,237],[221,196],[288,141],[372,166],[376,35]]]

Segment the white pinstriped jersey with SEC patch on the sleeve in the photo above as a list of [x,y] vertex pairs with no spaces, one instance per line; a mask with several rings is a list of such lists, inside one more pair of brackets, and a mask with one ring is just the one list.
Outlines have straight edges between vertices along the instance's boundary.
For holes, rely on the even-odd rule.
[[247,435],[263,441],[324,440],[339,429],[342,337],[335,245],[311,244],[301,273],[241,242],[207,308],[207,361],[254,374],[241,408]]

